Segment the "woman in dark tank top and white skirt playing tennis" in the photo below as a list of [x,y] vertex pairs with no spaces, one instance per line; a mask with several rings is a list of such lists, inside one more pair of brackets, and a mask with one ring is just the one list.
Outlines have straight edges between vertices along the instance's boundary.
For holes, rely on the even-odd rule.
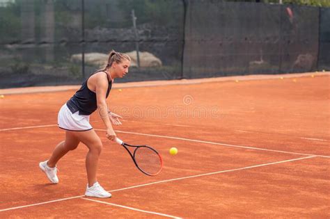
[[70,150],[76,149],[79,143],[84,143],[89,149],[86,156],[88,184],[85,195],[111,197],[111,194],[97,182],[97,163],[102,151],[102,142],[89,123],[89,117],[98,108],[99,115],[107,127],[107,138],[116,139],[111,122],[121,124],[119,120],[121,117],[115,113],[109,113],[106,98],[111,90],[113,79],[122,78],[127,74],[130,60],[126,54],[112,50],[107,65],[89,76],[58,112],[58,127],[65,130],[65,140],[55,147],[49,160],[39,163],[40,169],[53,184],[58,184],[56,163],[59,159]]

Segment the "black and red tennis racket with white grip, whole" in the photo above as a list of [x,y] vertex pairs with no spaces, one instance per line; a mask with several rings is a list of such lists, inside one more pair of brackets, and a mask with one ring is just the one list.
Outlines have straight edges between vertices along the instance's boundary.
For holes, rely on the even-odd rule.
[[136,168],[141,170],[145,175],[155,176],[162,171],[162,156],[148,145],[129,145],[116,138],[116,143],[122,145],[129,155],[132,157]]

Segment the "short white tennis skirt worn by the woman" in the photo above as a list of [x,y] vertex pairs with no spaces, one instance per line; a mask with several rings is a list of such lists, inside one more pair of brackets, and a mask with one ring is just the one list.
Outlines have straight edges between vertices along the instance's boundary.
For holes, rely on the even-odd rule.
[[64,104],[58,112],[58,127],[69,131],[88,131],[93,129],[89,123],[89,115],[79,115],[79,111],[71,113],[70,109]]

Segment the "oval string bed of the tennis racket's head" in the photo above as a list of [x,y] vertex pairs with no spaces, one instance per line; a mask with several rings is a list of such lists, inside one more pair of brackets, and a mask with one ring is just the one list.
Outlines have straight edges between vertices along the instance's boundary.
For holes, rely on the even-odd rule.
[[157,152],[149,147],[137,148],[134,159],[139,168],[149,175],[157,175],[162,169],[162,159]]

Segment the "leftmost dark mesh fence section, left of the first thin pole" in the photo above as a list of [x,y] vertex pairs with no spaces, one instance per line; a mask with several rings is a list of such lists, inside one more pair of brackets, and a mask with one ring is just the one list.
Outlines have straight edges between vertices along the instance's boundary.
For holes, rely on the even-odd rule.
[[0,20],[0,88],[81,81],[79,0],[9,2]]

